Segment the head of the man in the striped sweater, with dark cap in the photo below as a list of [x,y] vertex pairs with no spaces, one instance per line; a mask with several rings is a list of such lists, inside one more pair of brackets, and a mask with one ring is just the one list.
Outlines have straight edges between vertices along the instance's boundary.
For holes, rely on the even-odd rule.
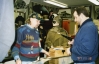
[[40,24],[41,16],[37,13],[32,13],[29,15],[27,23],[30,24],[33,28],[37,28]]

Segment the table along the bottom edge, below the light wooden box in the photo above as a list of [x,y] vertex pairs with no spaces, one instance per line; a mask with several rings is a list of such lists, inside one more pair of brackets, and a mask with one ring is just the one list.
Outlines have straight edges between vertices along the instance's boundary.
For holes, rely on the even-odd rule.
[[[40,58],[40,61],[33,61],[33,64],[71,64],[72,62],[71,56],[64,56],[56,58]],[[11,60],[1,64],[15,64],[15,61]]]

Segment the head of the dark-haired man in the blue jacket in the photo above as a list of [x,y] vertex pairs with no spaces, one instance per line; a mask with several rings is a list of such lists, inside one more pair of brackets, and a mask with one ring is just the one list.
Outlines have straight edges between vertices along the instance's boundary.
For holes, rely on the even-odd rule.
[[78,7],[74,10],[74,21],[78,24],[82,24],[86,19],[89,18],[89,13],[85,7]]

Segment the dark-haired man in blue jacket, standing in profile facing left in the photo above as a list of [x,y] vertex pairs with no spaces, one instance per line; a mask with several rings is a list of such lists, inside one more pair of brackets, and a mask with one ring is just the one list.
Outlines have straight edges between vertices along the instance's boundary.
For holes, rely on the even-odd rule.
[[76,8],[73,15],[75,22],[80,25],[74,40],[68,42],[72,44],[70,52],[74,64],[95,64],[98,56],[98,29],[84,7]]

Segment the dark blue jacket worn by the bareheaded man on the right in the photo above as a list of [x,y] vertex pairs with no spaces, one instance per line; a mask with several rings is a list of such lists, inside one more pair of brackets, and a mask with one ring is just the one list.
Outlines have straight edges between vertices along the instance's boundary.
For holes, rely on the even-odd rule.
[[76,63],[95,61],[98,56],[98,29],[87,19],[79,28],[74,44],[71,47],[71,57]]

